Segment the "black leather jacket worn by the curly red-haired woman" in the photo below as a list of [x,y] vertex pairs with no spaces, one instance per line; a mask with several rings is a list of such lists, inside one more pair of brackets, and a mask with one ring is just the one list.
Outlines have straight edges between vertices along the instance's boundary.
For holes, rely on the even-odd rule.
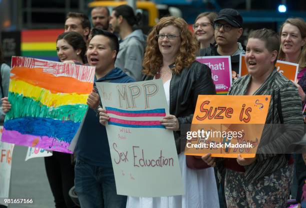
[[[169,65],[172,68],[174,65]],[[151,80],[152,76],[144,75],[142,80]],[[170,81],[169,113],[174,115],[179,123],[191,124],[198,95],[215,95],[215,87],[211,79],[210,68],[194,61],[189,68],[184,68],[180,74],[172,73]],[[177,154],[181,147],[180,131],[175,131],[174,139]]]

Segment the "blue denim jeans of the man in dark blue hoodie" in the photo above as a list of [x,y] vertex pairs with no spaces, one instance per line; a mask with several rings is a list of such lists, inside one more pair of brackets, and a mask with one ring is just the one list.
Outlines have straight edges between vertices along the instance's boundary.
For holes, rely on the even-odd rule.
[[112,168],[76,160],[74,174],[81,208],[125,208],[127,197],[117,195]]

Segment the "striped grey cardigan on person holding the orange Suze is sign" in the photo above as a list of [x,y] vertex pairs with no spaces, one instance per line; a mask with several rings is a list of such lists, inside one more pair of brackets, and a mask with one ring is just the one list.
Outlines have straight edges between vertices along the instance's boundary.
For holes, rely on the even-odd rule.
[[[245,95],[250,81],[250,74],[236,79],[231,85],[228,95]],[[260,179],[286,166],[288,164],[286,155],[275,153],[284,153],[290,144],[300,141],[300,135],[303,134],[301,99],[297,88],[291,81],[278,73],[276,68],[253,95],[271,95],[266,124],[300,125],[290,125],[290,128],[285,132],[272,131],[272,125],[265,126],[261,138],[268,139],[260,141],[256,152],[256,161],[244,166],[245,179],[248,181]]]

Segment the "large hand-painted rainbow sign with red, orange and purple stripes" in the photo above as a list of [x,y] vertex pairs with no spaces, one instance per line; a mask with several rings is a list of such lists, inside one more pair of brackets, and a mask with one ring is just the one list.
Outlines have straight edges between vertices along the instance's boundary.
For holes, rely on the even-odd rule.
[[12,57],[2,142],[72,153],[93,78],[94,67]]

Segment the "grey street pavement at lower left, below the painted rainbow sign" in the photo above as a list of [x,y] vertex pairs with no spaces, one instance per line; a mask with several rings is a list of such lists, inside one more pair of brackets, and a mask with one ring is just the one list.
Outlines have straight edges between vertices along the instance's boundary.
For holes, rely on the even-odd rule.
[[15,145],[12,156],[10,199],[32,199],[32,204],[10,204],[8,208],[54,208],[43,158],[24,161],[27,147]]

